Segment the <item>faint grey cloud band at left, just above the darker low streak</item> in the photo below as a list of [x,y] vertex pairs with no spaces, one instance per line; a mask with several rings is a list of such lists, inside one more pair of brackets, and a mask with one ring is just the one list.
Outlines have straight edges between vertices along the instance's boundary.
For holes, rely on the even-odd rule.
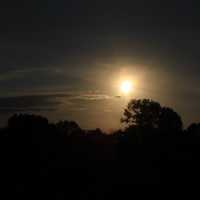
[[[72,73],[64,67],[43,67],[10,70],[0,73],[0,90],[2,95],[24,93],[33,93],[34,91],[51,91],[58,90],[66,92],[69,90],[80,91],[86,90],[88,85],[92,89],[96,85],[87,80],[83,75],[76,72]],[[1,95],[1,96],[2,96]]]

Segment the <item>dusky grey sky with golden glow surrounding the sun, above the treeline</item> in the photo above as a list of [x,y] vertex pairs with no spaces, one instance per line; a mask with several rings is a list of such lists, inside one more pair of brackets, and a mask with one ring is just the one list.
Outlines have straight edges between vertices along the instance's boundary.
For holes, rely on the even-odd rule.
[[[6,1],[0,6],[0,124],[16,112],[120,127],[130,98],[200,119],[198,1]],[[119,81],[133,80],[121,97]]]

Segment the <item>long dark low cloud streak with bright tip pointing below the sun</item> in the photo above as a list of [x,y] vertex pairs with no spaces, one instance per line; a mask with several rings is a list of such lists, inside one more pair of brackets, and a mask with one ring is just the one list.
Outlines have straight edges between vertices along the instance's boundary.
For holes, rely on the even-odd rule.
[[[58,106],[65,104],[68,106],[78,105],[79,101],[101,101],[111,99],[105,94],[38,94],[29,96],[14,96],[0,98],[0,112],[39,112],[55,111]],[[82,107],[80,107],[82,109]],[[86,108],[85,108],[86,109]]]

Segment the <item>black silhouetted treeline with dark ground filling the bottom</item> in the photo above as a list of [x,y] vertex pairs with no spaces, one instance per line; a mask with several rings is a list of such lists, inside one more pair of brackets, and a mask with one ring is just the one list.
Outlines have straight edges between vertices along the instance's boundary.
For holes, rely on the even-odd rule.
[[[133,184],[200,178],[200,123],[183,129],[171,108],[131,100],[122,130],[14,114],[0,130],[2,191],[26,199],[121,199]],[[129,190],[129,192],[132,189]]]

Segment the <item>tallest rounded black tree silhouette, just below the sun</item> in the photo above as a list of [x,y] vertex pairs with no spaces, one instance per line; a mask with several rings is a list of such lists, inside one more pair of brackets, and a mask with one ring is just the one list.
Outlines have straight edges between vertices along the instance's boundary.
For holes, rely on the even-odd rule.
[[128,127],[181,131],[181,117],[171,108],[162,107],[150,99],[133,99],[124,110],[122,123]]

